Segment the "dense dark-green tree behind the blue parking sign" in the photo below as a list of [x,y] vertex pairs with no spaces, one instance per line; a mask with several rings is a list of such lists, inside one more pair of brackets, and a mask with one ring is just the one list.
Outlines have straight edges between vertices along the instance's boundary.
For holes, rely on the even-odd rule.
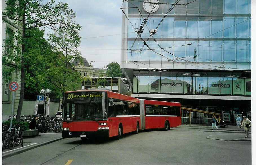
[[56,89],[40,81],[42,74],[49,68],[49,63],[57,58],[52,46],[43,38],[44,34],[44,30],[39,28],[25,30],[25,35],[30,36],[25,44],[25,99],[34,99],[42,88],[51,89],[51,97],[58,98]]

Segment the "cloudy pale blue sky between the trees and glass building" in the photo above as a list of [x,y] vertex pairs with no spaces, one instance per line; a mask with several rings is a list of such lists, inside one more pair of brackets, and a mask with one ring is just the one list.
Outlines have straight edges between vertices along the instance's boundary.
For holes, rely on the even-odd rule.
[[59,1],[67,3],[69,8],[77,13],[75,21],[82,27],[80,32],[82,57],[89,63],[96,61],[92,62],[94,68],[103,68],[110,62],[120,64],[122,1],[56,0]]

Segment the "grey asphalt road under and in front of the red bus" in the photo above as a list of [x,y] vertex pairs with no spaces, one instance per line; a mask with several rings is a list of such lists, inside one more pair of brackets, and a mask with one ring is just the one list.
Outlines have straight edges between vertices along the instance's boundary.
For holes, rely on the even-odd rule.
[[230,133],[171,128],[130,133],[119,141],[62,139],[3,164],[251,164],[251,142],[207,139],[217,134]]

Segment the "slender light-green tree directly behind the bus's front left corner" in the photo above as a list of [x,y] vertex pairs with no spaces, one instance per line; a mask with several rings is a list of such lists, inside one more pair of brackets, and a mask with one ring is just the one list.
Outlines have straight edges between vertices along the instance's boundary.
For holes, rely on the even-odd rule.
[[81,61],[81,52],[76,49],[81,44],[81,37],[78,32],[66,32],[61,28],[58,28],[55,34],[48,34],[48,37],[53,50],[59,56],[50,64],[43,77],[58,88],[63,98],[65,91],[80,89],[83,81],[81,74],[74,70],[72,63],[76,60]]

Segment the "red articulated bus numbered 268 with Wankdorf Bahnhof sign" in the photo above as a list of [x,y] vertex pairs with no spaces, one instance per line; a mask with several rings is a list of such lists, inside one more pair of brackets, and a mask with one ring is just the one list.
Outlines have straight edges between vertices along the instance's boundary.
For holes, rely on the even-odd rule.
[[180,103],[137,99],[109,90],[65,92],[62,137],[115,137],[181,124]]

